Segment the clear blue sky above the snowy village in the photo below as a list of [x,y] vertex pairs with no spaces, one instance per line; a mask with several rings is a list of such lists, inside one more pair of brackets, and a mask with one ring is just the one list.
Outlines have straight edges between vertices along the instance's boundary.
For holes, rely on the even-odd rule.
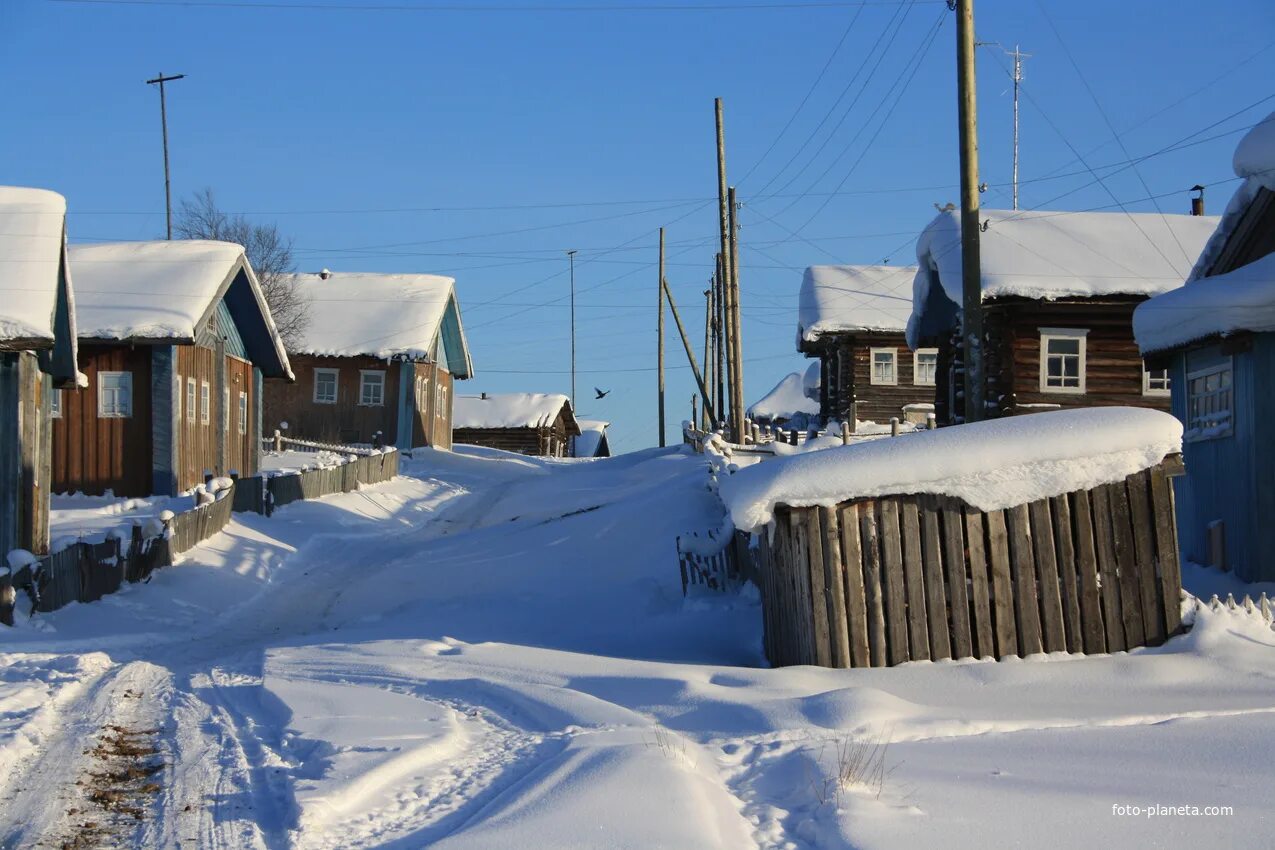
[[[655,233],[668,227],[668,277],[699,348],[714,97],[745,203],[748,400],[803,366],[806,265],[910,263],[933,204],[958,200],[942,3],[737,8],[748,1],[6,0],[0,182],[65,194],[73,241],[162,236],[158,96],[143,80],[184,73],[168,101],[175,198],[210,186],[227,209],[277,222],[302,270],[454,275],[478,373],[464,393],[569,389],[564,251],[578,249],[580,413],[612,421],[620,450],[654,445]],[[980,40],[1031,54],[1025,208],[1114,196],[1151,210],[1149,194],[1172,192],[1162,208],[1186,212],[1190,186],[1230,178],[1241,129],[1275,110],[1253,106],[1275,94],[1275,4],[1042,1],[1048,18],[1035,0],[977,6]],[[572,5],[588,9],[557,10]],[[983,201],[1009,206],[1009,64],[979,54]],[[1088,171],[1188,136],[1205,141],[1102,185]],[[1037,180],[1056,173],[1072,176]],[[1234,185],[1210,187],[1210,212]],[[676,335],[667,344],[676,441],[692,380]],[[594,403],[595,385],[612,395]]]

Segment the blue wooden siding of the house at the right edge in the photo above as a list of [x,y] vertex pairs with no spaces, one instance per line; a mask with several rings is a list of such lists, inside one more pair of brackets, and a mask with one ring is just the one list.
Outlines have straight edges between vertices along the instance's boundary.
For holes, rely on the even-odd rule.
[[[1178,353],[1173,414],[1186,422],[1186,376],[1215,362],[1216,347]],[[1230,436],[1187,441],[1187,474],[1177,480],[1182,557],[1209,562],[1209,524],[1225,524],[1227,559],[1247,581],[1275,580],[1275,334],[1253,338],[1232,356],[1234,414]]]

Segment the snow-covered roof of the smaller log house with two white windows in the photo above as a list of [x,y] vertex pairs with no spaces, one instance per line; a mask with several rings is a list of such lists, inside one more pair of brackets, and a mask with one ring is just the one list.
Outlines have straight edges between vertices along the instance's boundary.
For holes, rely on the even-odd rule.
[[797,302],[797,345],[820,334],[901,331],[912,313],[914,265],[812,265]]

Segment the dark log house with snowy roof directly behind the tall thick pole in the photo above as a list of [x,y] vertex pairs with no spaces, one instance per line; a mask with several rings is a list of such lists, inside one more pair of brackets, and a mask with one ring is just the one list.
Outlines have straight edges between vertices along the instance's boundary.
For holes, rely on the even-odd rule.
[[[1133,342],[1133,308],[1182,285],[1216,218],[983,210],[988,415],[1132,405],[1169,409],[1169,376]],[[937,349],[940,424],[964,421],[960,215],[917,241],[909,343]]]

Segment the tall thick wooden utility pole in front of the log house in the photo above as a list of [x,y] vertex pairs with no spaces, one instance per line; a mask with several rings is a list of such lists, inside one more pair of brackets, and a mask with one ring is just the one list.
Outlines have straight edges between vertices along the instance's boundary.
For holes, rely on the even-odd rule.
[[978,222],[978,101],[974,92],[974,0],[956,0],[956,89],[960,116],[961,340],[965,422],[986,414],[983,282]]

